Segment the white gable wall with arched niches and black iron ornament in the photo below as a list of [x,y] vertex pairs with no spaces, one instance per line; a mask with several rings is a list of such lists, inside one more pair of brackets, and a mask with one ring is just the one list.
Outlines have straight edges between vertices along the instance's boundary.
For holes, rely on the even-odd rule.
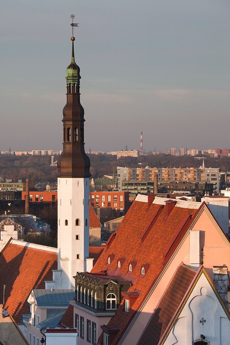
[[[205,320],[203,325],[202,319]],[[229,345],[230,321],[204,273],[164,344],[191,345],[201,334],[211,345]]]

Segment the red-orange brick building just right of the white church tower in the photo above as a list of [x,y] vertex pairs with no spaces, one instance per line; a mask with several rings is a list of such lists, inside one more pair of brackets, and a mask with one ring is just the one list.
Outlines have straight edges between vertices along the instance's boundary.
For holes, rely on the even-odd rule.
[[117,217],[124,216],[129,207],[128,192],[89,192],[93,207],[112,208]]

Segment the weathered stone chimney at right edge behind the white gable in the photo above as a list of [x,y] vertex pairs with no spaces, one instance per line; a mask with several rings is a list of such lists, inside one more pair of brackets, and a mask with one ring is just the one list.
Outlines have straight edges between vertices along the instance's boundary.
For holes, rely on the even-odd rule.
[[213,266],[213,283],[215,288],[220,294],[227,310],[229,310],[228,303],[228,267],[223,266]]

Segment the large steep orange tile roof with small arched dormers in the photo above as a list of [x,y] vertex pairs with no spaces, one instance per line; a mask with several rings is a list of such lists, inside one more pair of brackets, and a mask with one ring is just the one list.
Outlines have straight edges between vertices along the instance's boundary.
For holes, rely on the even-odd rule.
[[[141,295],[136,299],[132,309],[127,315],[124,315],[124,299],[119,305],[116,314],[109,321],[108,324],[116,324],[121,327],[117,333],[112,345],[116,344],[121,338],[128,324],[132,321],[134,315],[141,307],[147,294],[150,292],[154,285],[157,277],[162,272],[166,260],[172,254],[173,248],[168,250],[167,259],[165,260],[163,253],[167,246],[173,240],[173,236],[179,232],[180,226],[184,218],[188,215],[192,215],[191,222],[194,219],[194,214],[198,212],[195,208],[174,207],[170,215],[166,218],[165,207],[161,211],[161,214],[153,222],[153,225],[148,228],[147,235],[145,236],[144,242],[141,242],[141,235],[143,231],[150,226],[151,220],[155,215],[159,205],[151,204],[149,208],[148,204],[142,201],[134,201],[131,208],[125,215],[122,223],[115,231],[114,239],[110,241],[109,245],[107,242],[107,249],[105,249],[97,260],[96,264],[92,269],[92,273],[98,273],[99,270],[106,270],[108,275],[123,275],[126,276],[128,272],[128,264],[131,261],[136,260],[137,265],[135,266],[131,279],[133,286],[128,291],[134,291],[135,289],[141,290]],[[188,228],[191,222],[185,224]],[[184,230],[184,231],[185,231]],[[180,231],[182,236],[182,231]],[[172,243],[173,246],[176,244],[176,240]],[[115,254],[114,260],[111,264],[107,264],[108,255]],[[125,263],[121,269],[117,269],[117,259],[125,257]],[[145,276],[141,275],[141,267],[144,264],[150,264]],[[98,344],[102,344],[102,336],[98,339]]]

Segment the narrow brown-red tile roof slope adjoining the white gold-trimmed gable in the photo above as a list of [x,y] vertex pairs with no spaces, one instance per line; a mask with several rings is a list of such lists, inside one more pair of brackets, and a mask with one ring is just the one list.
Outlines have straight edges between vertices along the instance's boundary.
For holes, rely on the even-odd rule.
[[157,345],[197,272],[180,265],[138,345]]

